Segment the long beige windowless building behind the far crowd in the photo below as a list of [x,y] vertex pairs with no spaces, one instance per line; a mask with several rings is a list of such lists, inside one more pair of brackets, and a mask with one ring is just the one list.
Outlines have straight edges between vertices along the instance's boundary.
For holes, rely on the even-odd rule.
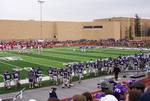
[[142,36],[136,37],[134,19],[114,17],[92,22],[0,20],[0,40],[99,40],[129,38],[150,39],[150,20],[141,20]]

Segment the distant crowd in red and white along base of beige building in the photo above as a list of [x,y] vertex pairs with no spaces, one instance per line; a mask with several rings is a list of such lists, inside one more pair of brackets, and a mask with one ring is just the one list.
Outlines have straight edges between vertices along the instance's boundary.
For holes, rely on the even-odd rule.
[[1,41],[0,50],[13,50],[18,48],[53,48],[53,47],[64,47],[64,46],[103,46],[103,47],[149,47],[149,40],[132,41],[132,40],[67,40],[67,41],[50,41],[50,40],[12,40],[12,41]]

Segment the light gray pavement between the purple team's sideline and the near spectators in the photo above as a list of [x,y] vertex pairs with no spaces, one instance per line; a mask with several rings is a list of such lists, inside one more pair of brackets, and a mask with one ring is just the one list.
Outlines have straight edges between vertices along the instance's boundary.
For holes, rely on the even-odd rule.
[[[112,78],[112,76],[102,76],[93,79],[88,79],[82,81],[80,84],[78,82],[74,82],[74,86],[71,88],[61,88],[61,86],[57,87],[57,95],[60,99],[66,97],[72,97],[75,94],[82,94],[83,92],[89,91],[97,91],[97,83],[103,81],[104,79]],[[127,80],[129,78],[119,78],[120,81]],[[44,87],[34,90],[26,90],[23,93],[23,100],[22,101],[29,101],[29,99],[36,99],[37,101],[47,101],[48,93],[51,87]],[[9,93],[0,95],[0,98],[10,98],[15,96],[17,93]]]

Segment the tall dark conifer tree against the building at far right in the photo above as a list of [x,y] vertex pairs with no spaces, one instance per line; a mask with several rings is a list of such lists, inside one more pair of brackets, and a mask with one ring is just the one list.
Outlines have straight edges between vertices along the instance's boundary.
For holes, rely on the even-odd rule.
[[135,36],[137,37],[141,37],[142,33],[141,33],[141,19],[140,17],[136,14],[135,15],[135,19],[134,19],[134,28],[135,28]]

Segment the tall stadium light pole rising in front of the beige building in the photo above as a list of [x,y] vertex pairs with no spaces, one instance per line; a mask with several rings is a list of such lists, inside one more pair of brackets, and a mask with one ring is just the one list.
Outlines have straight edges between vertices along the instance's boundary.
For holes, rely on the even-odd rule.
[[43,21],[42,21],[42,4],[44,3],[45,1],[43,0],[38,0],[38,3],[40,4],[40,39],[42,39],[42,34],[43,34]]

